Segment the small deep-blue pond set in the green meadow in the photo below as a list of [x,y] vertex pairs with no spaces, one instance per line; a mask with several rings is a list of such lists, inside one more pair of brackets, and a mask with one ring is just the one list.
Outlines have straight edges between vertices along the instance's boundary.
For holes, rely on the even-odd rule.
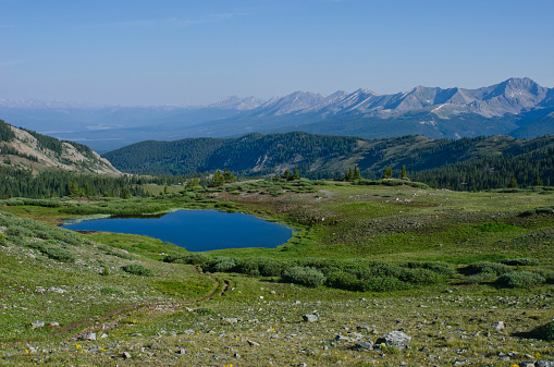
[[290,227],[280,223],[216,210],[180,210],[159,218],[94,219],[62,227],[75,231],[144,234],[171,242],[189,252],[272,248],[287,242],[293,232]]

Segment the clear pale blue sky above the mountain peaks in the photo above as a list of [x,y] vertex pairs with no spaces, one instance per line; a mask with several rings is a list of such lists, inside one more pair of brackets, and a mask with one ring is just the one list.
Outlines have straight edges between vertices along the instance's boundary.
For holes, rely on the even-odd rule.
[[554,87],[553,0],[0,0],[0,98]]

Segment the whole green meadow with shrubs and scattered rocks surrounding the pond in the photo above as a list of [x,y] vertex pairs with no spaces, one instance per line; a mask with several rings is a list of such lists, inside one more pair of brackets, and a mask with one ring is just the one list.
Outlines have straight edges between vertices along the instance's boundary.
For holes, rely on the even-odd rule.
[[[460,193],[409,182],[268,179],[207,189],[173,185],[146,199],[59,203],[2,203],[4,364],[554,360],[552,334],[540,328],[554,315],[549,189]],[[297,232],[274,249],[202,254],[145,236],[41,224],[136,207],[220,208]],[[323,285],[296,278],[291,267],[315,269]],[[362,276],[377,269],[385,272]],[[407,348],[368,346],[398,330],[410,337]]]

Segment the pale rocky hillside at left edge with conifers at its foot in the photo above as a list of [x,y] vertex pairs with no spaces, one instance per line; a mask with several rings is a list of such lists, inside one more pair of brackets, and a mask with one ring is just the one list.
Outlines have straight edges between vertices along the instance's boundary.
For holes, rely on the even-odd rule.
[[[144,181],[144,179],[143,179]],[[59,140],[0,120],[0,198],[147,195],[140,180],[74,142]]]

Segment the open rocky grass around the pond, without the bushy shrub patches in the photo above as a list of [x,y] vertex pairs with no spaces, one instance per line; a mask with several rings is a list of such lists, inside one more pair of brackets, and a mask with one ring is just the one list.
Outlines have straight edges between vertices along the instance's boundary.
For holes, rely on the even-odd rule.
[[[202,195],[233,200],[241,210],[295,224],[299,231],[275,249],[214,252],[218,255],[441,259],[453,267],[526,256],[540,259],[543,269],[554,269],[552,215],[519,216],[531,208],[553,206],[552,195],[469,194],[348,184],[316,186],[317,193],[262,195],[258,193],[267,187],[259,184],[241,186],[242,192],[229,187]],[[172,201],[158,200],[152,208],[160,205],[169,208]],[[110,205],[121,209],[124,201]],[[2,210],[50,222],[52,218],[67,216],[59,208]],[[76,256],[71,264],[12,244],[10,237],[1,247],[3,363],[323,366],[342,360],[343,365],[371,366],[377,362],[443,365],[458,358],[478,365],[508,366],[509,363],[498,360],[498,353],[512,351],[519,353],[515,362],[530,359],[524,354],[533,359],[554,359],[547,342],[513,335],[552,319],[549,294],[554,293],[553,285],[503,290],[488,284],[464,284],[464,278],[457,276],[450,284],[418,289],[417,293],[405,290],[382,294],[306,289],[270,278],[225,273],[212,276],[220,284],[223,279],[230,283],[224,296],[200,304],[192,299],[208,294],[218,284],[195,273],[190,266],[158,261],[163,256],[160,254],[177,248],[135,235],[95,233],[82,237],[85,240],[79,246],[70,248]],[[143,264],[153,269],[156,276],[143,278],[123,272],[121,266],[130,262]],[[110,269],[107,277],[100,276],[104,267]],[[37,286],[47,291],[35,292]],[[50,286],[61,288],[65,293],[48,291]],[[454,291],[445,293],[446,290]],[[193,310],[176,307],[175,303],[189,305]],[[106,330],[106,339],[95,342],[69,339],[96,321],[104,322],[101,316],[110,310],[135,304],[157,307],[122,316],[116,327]],[[315,311],[319,322],[300,322],[301,315]],[[238,321],[229,323],[222,320],[225,317]],[[62,328],[76,321],[85,323],[56,337],[58,329],[32,329],[28,325],[36,319],[58,321]],[[491,329],[498,320],[506,322],[506,330]],[[356,330],[362,325],[370,330]],[[413,337],[411,350],[347,351],[347,346],[359,342],[354,340],[358,337],[374,341],[381,333],[398,329]],[[96,331],[98,335],[102,332]],[[334,342],[337,334],[353,340]],[[253,346],[248,340],[261,345]],[[38,351],[33,353],[30,347]],[[427,350],[419,351],[423,347]],[[177,354],[181,348],[186,353]],[[131,353],[132,358],[123,360],[123,352]]]

